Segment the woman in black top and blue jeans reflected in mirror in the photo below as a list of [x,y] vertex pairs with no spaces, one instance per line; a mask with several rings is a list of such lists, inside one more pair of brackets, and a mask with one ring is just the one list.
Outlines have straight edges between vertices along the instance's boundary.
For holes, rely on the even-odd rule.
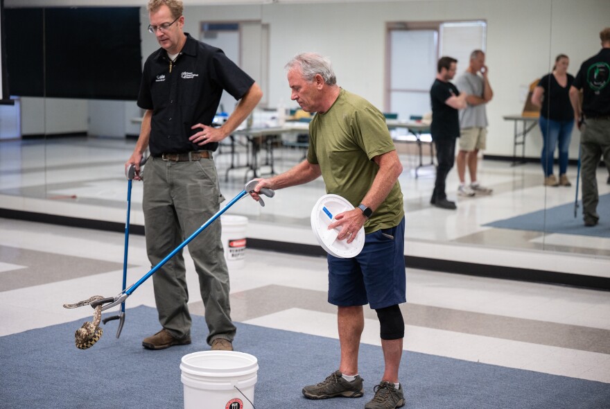
[[[559,54],[552,73],[543,76],[532,94],[532,103],[540,110],[540,130],[543,136],[541,163],[546,186],[571,186],[566,171],[568,149],[574,128],[574,110],[570,103],[570,85],[574,77],[568,74],[570,60]],[[553,154],[559,143],[559,180],[553,175]]]

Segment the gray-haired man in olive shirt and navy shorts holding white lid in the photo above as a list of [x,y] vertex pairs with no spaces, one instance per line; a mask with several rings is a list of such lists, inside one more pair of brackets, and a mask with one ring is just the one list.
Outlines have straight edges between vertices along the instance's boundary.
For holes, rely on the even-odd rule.
[[[398,379],[406,302],[402,165],[383,114],[364,98],[340,88],[331,63],[315,53],[295,56],[288,64],[291,99],[315,112],[309,125],[306,159],[289,171],[259,180],[254,189],[282,189],[322,175],[326,192],[340,195],[354,209],[335,216],[329,229],[351,243],[365,227],[365,245],[357,256],[328,256],[329,303],[338,306],[341,360],[321,383],[303,388],[308,399],[362,397],[358,347],[364,329],[363,306],[377,313],[385,372],[365,409],[400,408],[405,404]],[[253,194],[258,199],[256,193]]]

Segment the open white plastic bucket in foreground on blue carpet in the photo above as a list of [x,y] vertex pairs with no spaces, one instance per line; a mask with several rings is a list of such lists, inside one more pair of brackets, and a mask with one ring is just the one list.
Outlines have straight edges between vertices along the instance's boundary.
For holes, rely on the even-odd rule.
[[[236,351],[201,351],[182,357],[184,409],[252,409],[259,364]],[[240,392],[241,391],[241,392]]]

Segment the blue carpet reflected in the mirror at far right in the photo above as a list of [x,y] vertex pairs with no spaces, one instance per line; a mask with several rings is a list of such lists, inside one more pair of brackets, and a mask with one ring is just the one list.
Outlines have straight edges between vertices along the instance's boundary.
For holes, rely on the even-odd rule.
[[610,193],[600,195],[598,214],[600,223],[594,227],[586,227],[582,220],[582,202],[579,202],[576,218],[574,217],[574,202],[571,202],[546,210],[496,220],[484,226],[610,238]]

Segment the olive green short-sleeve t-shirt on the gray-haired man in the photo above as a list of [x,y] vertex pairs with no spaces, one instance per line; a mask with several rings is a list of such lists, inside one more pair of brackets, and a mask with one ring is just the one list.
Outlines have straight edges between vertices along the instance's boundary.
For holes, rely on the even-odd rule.
[[[385,117],[364,98],[341,89],[331,108],[309,124],[307,160],[319,164],[326,193],[340,195],[354,207],[371,188],[379,166],[372,160],[395,150]],[[397,226],[404,216],[397,181],[365,223],[365,233]]]

